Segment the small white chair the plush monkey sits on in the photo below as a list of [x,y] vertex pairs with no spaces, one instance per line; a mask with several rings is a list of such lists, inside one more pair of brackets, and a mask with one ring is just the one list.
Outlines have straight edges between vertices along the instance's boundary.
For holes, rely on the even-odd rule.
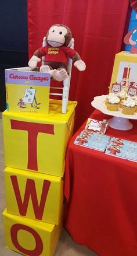
[[[46,46],[46,37],[44,37],[43,39],[43,43],[42,46]],[[69,43],[69,45],[67,45],[67,47],[70,47],[72,49],[74,49],[74,38],[71,38],[71,41]],[[52,91],[54,89],[59,89],[60,93],[49,93],[50,95],[58,95],[58,96],[62,96],[62,113],[65,114],[67,111],[67,103],[68,103],[68,99],[69,99],[69,90],[70,90],[70,79],[71,79],[71,69],[72,69],[72,59],[68,58],[67,61],[67,73],[68,76],[66,79],[63,80],[63,87],[54,87],[51,86]],[[42,65],[44,65],[44,57],[42,57]]]

